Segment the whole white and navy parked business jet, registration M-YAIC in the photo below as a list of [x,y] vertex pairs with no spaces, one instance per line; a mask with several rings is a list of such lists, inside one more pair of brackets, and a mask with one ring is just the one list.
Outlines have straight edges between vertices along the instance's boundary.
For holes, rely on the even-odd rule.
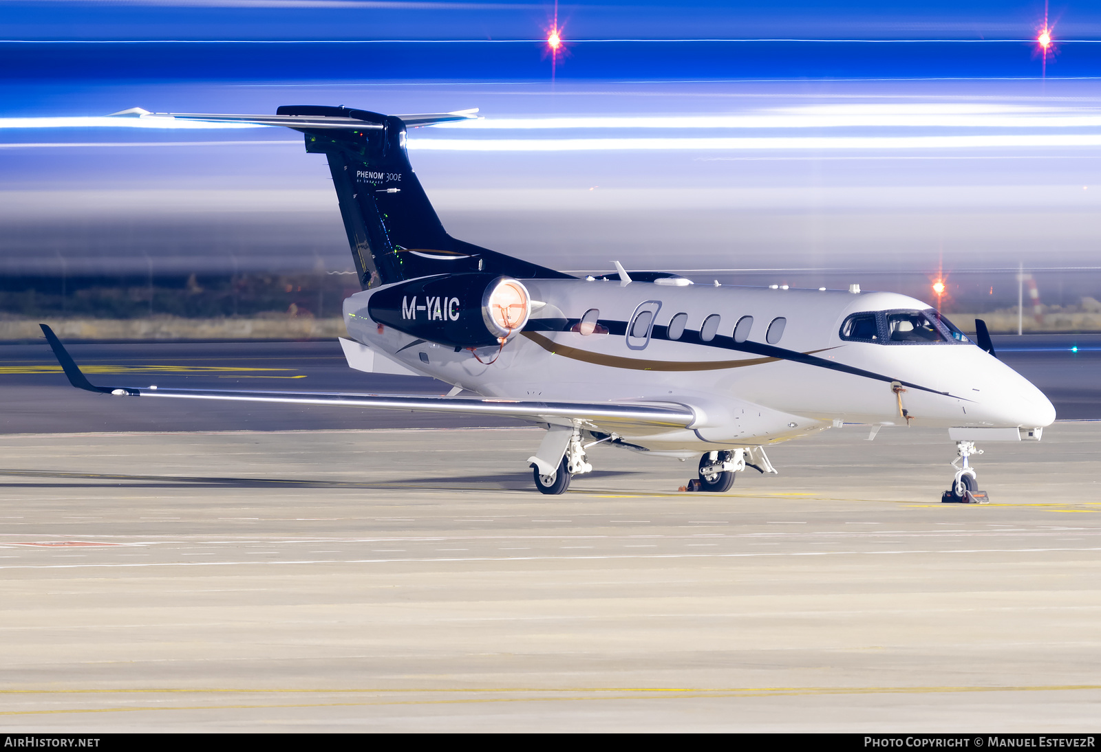
[[[384,115],[281,107],[272,115],[156,114],[281,125],[324,154],[363,290],[344,303],[351,367],[432,376],[447,397],[95,386],[43,331],[70,383],[120,397],[246,400],[520,418],[546,427],[528,460],[562,494],[606,444],[699,457],[691,490],[775,473],[765,447],[844,423],[949,430],[942,500],[979,502],[978,440],[1038,440],[1047,398],[930,306],[893,292],[696,285],[669,273],[574,277],[447,234],[410,166],[406,130],[475,111]],[[458,397],[461,391],[479,397]]]

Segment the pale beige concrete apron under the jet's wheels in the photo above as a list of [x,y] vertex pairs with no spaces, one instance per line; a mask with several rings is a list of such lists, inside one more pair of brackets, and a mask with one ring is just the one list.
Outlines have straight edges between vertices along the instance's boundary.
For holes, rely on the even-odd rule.
[[7,731],[1083,731],[1101,423],[855,427],[780,475],[537,429],[0,436]]

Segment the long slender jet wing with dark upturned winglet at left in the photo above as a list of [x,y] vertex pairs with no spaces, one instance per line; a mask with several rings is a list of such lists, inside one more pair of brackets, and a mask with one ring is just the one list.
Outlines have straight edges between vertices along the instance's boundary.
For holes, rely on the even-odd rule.
[[415,397],[325,391],[229,391],[224,389],[159,389],[157,387],[112,387],[91,384],[46,324],[42,332],[50,342],[69,384],[78,389],[118,397],[168,399],[212,399],[290,405],[413,410],[519,418],[539,423],[569,424],[574,421],[614,428],[687,428],[696,421],[691,408],[676,402],[544,402],[470,397]]

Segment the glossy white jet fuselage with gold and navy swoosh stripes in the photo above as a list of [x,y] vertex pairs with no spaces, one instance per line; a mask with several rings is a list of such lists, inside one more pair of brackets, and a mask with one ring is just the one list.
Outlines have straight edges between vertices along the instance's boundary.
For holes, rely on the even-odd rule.
[[[346,323],[353,339],[377,353],[486,397],[690,407],[696,421],[688,429],[619,432],[657,452],[768,444],[838,421],[1036,428],[1055,419],[1036,387],[970,342],[842,339],[850,314],[930,309],[906,296],[584,279],[523,284],[536,301],[528,327],[499,354],[497,347],[478,350],[484,363],[470,351],[379,325],[367,312],[374,290],[345,301]],[[576,321],[591,309],[610,323],[609,333],[604,327],[588,334],[554,325],[539,331],[541,321]],[[653,329],[631,336],[639,310],[656,310]],[[688,334],[657,336],[678,313],[687,314]],[[702,341],[704,322],[713,316],[717,333]],[[753,324],[738,343],[735,323],[748,316]],[[786,320],[783,333],[766,342],[777,318]],[[611,322],[620,322],[618,332]]]

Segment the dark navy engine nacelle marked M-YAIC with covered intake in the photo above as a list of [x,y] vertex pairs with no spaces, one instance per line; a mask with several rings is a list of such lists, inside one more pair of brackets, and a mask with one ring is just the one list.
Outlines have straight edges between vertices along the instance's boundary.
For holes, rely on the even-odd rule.
[[532,298],[511,277],[449,274],[410,279],[374,292],[367,312],[377,323],[447,345],[484,347],[511,340],[527,323]]

